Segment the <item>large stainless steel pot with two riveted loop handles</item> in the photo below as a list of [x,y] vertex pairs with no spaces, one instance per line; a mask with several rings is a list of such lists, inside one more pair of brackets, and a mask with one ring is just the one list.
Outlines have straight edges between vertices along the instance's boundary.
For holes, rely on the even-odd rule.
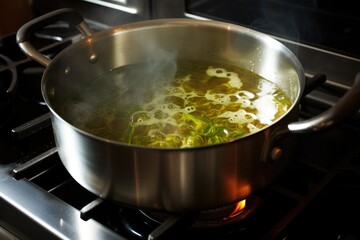
[[[29,35],[56,20],[74,24],[84,38],[50,60],[33,48]],[[161,19],[93,34],[81,15],[60,9],[25,24],[17,41],[28,56],[46,66],[42,93],[51,110],[58,153],[68,172],[98,196],[140,208],[189,212],[242,200],[284,170],[296,146],[295,133],[325,129],[360,105],[357,80],[337,106],[297,122],[305,79],[296,56],[267,35],[229,23]],[[54,102],[67,98],[74,84],[86,86],[90,78],[117,67],[159,60],[159,49],[177,58],[211,59],[251,69],[280,85],[292,107],[260,132],[189,149],[147,148],[99,138],[66,122],[54,107]]]

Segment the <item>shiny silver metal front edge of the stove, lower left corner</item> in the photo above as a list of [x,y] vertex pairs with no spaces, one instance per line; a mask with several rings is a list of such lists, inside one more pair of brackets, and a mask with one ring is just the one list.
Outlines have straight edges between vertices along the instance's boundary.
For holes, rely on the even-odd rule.
[[95,220],[82,220],[78,210],[26,179],[14,179],[14,165],[0,168],[0,225],[9,233],[20,239],[124,239]]

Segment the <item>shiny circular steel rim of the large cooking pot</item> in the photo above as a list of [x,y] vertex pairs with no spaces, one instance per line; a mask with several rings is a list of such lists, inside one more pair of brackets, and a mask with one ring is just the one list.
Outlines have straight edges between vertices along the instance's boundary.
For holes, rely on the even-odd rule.
[[[235,32],[239,32],[240,34],[246,34],[246,35],[252,36],[254,38],[261,39],[262,41],[266,42],[266,44],[269,44],[274,48],[281,49],[282,52],[286,53],[286,56],[289,58],[289,60],[293,61],[293,63],[298,68],[298,71],[297,71],[297,73],[298,73],[298,75],[297,75],[298,91],[297,91],[294,101],[292,102],[291,107],[289,107],[289,109],[287,110],[287,112],[285,114],[283,114],[278,119],[276,119],[276,121],[274,121],[270,125],[254,132],[254,133],[249,133],[249,134],[246,134],[245,136],[234,138],[231,141],[224,142],[224,143],[207,144],[207,145],[202,145],[202,146],[186,147],[186,148],[141,146],[141,145],[127,144],[127,143],[123,143],[120,141],[110,140],[110,139],[107,139],[104,137],[94,135],[92,133],[89,133],[85,130],[82,130],[82,129],[74,126],[73,124],[71,124],[68,121],[66,121],[65,119],[63,119],[63,117],[61,117],[53,109],[52,104],[50,103],[50,100],[46,94],[46,85],[47,85],[47,79],[48,79],[47,77],[49,75],[48,72],[49,72],[49,69],[53,68],[53,65],[55,65],[57,61],[64,58],[64,55],[71,53],[76,48],[87,46],[93,42],[101,41],[103,38],[114,37],[116,35],[126,34],[130,31],[141,31],[141,30],[149,29],[149,28],[169,28],[169,27],[184,27],[184,26],[185,27],[186,26],[190,26],[190,27],[206,26],[206,27],[215,27],[215,28],[219,28],[219,29],[227,29],[229,31],[235,31]],[[66,123],[67,125],[69,125],[76,132],[86,135],[90,138],[96,139],[97,141],[106,142],[107,144],[118,145],[121,147],[145,149],[145,150],[146,149],[148,149],[148,150],[166,150],[166,151],[184,151],[184,150],[192,151],[192,150],[197,150],[197,149],[211,148],[211,147],[215,147],[215,146],[237,143],[239,141],[245,141],[246,139],[248,139],[254,135],[262,134],[266,129],[273,127],[275,124],[277,124],[279,121],[281,121],[283,118],[285,118],[290,112],[292,112],[295,108],[298,107],[300,98],[304,91],[304,87],[305,87],[305,74],[304,74],[302,64],[300,63],[299,59],[295,56],[295,54],[289,48],[287,48],[283,43],[279,42],[275,38],[272,38],[271,36],[269,36],[265,33],[262,33],[262,32],[259,32],[259,31],[256,31],[256,30],[253,30],[250,28],[246,28],[243,26],[235,25],[232,23],[226,23],[226,22],[221,22],[221,21],[216,21],[216,20],[199,20],[199,19],[185,19],[185,18],[165,18],[165,19],[144,20],[144,21],[133,22],[133,23],[115,26],[115,27],[112,27],[109,29],[102,30],[100,32],[93,33],[90,36],[84,37],[84,38],[80,39],[79,41],[71,44],[70,46],[68,46],[64,50],[62,50],[60,53],[58,53],[51,60],[49,65],[45,68],[45,71],[44,71],[43,77],[42,77],[42,81],[41,81],[41,92],[42,92],[42,95],[43,95],[43,98],[44,98],[46,104],[48,105],[48,107],[51,111],[51,116],[60,119],[61,121],[63,121],[63,123]]]

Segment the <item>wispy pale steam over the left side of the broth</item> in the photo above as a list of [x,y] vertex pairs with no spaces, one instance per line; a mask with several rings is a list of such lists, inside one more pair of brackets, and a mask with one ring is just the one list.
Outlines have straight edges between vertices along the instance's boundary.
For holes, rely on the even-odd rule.
[[[109,103],[120,109],[143,105],[158,89],[168,84],[169,79],[174,79],[177,72],[176,53],[161,50],[152,44],[144,48],[148,58],[143,59],[144,62],[139,65],[141,67],[129,68],[126,71],[111,69],[98,78],[89,79],[89,84],[82,84],[81,88],[76,89],[76,93],[71,94],[76,98],[70,100],[73,102],[72,107],[64,110],[67,119],[71,119],[75,125],[92,125],[95,112],[111,116],[111,111],[117,111],[107,108]],[[154,56],[156,59],[153,59]]]

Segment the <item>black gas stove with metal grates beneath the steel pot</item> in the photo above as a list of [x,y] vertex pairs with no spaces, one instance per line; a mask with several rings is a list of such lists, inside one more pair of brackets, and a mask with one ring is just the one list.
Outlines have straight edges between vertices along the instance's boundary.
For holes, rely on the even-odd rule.
[[[106,27],[88,21],[95,31]],[[57,24],[38,33],[35,45],[52,57],[78,39],[70,26]],[[359,59],[278,39],[296,51],[307,82],[326,80],[303,97],[301,120],[330,108],[350,89]],[[177,215],[101,199],[68,174],[41,96],[43,71],[20,51],[15,33],[0,39],[0,237],[360,239],[359,113],[329,130],[300,135],[283,174],[246,199],[243,209],[239,203]]]

